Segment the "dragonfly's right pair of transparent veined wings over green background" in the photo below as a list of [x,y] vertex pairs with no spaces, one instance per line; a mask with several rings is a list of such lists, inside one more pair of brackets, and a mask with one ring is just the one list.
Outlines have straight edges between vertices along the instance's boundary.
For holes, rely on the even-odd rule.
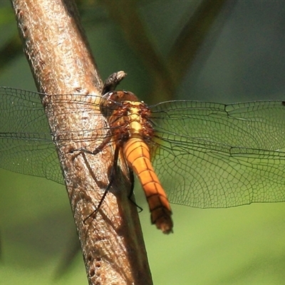
[[153,165],[170,202],[233,207],[285,200],[285,106],[171,101],[151,108]]

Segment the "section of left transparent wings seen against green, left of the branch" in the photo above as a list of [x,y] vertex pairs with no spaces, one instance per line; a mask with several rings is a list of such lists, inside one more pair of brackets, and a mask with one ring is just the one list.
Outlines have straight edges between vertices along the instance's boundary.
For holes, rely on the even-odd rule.
[[63,184],[38,93],[0,88],[0,167]]

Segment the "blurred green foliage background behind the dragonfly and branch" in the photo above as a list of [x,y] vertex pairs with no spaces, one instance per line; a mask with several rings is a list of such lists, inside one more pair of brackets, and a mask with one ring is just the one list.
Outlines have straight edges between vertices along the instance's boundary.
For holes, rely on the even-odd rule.
[[[147,103],[284,100],[282,1],[77,3],[103,79],[125,71],[120,88]],[[35,90],[9,6],[0,1],[0,85]],[[64,188],[4,170],[0,181],[0,283],[87,284]],[[154,284],[284,284],[283,203],[174,205],[175,233],[163,236],[140,187],[136,199]]]

